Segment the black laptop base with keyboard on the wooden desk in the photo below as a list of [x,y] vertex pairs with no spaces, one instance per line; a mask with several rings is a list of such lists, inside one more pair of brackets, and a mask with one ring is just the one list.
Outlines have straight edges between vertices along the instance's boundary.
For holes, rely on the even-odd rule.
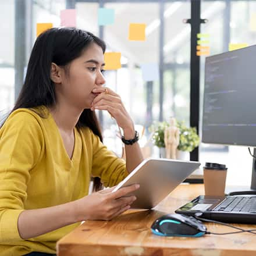
[[177,214],[195,215],[201,218],[229,223],[256,224],[256,195],[226,195],[213,197],[200,195],[175,211]]

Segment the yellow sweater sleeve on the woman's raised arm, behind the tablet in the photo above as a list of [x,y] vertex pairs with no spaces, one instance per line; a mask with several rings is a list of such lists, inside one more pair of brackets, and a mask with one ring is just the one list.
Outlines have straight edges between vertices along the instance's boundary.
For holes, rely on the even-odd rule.
[[93,177],[100,177],[105,187],[113,187],[129,174],[125,160],[118,158],[101,143],[99,137],[91,131],[93,141]]

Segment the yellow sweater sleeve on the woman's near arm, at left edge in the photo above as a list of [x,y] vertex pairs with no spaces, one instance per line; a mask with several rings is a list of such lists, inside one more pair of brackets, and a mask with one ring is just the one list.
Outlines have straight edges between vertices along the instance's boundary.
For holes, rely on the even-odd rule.
[[21,240],[17,220],[24,211],[30,170],[42,149],[42,130],[28,112],[13,112],[0,129],[0,242]]

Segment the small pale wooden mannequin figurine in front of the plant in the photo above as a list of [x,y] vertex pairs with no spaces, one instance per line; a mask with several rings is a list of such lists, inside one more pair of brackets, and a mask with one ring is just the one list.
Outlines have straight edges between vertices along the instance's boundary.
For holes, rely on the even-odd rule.
[[176,151],[180,142],[180,131],[176,126],[176,119],[170,118],[170,126],[165,129],[166,158],[176,159]]

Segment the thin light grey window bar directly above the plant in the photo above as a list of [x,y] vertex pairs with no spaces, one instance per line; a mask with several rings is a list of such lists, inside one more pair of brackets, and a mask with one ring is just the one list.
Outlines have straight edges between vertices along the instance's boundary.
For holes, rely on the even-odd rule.
[[165,3],[162,0],[159,2],[159,121],[163,120],[163,44],[164,44],[164,17]]

